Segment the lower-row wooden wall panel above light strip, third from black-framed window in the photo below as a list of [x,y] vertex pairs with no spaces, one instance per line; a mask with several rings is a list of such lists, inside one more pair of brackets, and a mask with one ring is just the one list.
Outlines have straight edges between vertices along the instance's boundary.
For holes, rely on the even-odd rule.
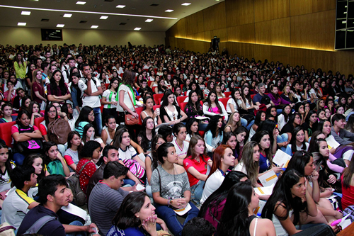
[[255,43],[254,23],[227,28],[227,40]]

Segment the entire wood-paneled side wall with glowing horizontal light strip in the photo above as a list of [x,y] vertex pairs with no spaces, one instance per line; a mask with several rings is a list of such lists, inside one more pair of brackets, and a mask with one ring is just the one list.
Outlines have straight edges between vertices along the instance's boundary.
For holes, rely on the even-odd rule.
[[219,49],[256,60],[280,61],[353,74],[353,50],[334,51],[336,0],[225,0],[182,18],[166,31],[166,45]]

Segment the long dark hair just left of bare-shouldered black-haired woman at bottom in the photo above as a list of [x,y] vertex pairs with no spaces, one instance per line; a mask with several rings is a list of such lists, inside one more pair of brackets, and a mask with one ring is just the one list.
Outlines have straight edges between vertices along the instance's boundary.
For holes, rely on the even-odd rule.
[[205,215],[210,213],[215,218],[217,218],[217,211],[220,203],[224,201],[224,199],[227,197],[227,193],[229,193],[229,190],[232,188],[232,186],[234,186],[234,184],[239,183],[239,181],[244,177],[246,177],[247,179],[249,178],[246,174],[242,172],[229,172],[225,176],[224,181],[222,181],[222,184],[219,186],[219,189],[215,190],[215,192],[212,193],[202,204],[198,216],[204,218]]

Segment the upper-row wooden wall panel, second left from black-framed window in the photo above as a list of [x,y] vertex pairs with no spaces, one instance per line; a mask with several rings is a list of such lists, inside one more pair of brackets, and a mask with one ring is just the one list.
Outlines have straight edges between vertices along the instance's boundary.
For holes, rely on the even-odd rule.
[[254,0],[255,22],[290,16],[289,0]]

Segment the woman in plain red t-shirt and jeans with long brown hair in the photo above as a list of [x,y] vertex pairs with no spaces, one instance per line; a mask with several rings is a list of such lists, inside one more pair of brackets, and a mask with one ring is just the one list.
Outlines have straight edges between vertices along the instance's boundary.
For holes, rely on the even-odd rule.
[[199,135],[194,135],[190,139],[187,158],[183,160],[183,167],[188,174],[192,193],[191,199],[197,205],[200,204],[203,187],[207,179],[207,166],[212,167],[212,160],[207,157],[205,142]]

